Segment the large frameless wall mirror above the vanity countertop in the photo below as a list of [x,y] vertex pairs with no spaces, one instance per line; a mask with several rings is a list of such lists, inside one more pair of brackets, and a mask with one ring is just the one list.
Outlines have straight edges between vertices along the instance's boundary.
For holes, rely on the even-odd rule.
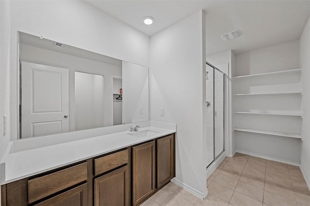
[[18,36],[19,138],[149,120],[147,67]]

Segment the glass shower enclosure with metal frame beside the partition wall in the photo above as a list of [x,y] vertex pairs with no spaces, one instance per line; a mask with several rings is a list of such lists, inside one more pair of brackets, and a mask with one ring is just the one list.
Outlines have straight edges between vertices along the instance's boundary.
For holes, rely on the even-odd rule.
[[210,165],[224,152],[225,74],[206,62],[206,144]]

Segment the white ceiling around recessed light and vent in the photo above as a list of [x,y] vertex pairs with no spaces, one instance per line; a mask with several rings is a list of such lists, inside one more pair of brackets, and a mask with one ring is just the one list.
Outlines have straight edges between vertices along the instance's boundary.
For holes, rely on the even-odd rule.
[[[299,39],[310,14],[310,0],[87,0],[105,13],[152,36],[199,10],[206,12],[207,54],[242,53]],[[144,16],[155,23],[144,25]],[[240,29],[243,35],[223,41]]]

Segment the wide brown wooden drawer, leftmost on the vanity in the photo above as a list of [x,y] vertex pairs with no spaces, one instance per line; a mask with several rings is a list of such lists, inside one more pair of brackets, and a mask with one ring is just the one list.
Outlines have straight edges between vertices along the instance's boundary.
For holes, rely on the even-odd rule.
[[28,180],[28,203],[87,180],[87,162]]

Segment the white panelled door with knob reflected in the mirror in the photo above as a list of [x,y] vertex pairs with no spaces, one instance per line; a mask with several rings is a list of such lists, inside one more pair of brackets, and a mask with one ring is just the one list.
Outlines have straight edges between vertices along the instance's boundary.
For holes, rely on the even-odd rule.
[[69,131],[69,70],[21,63],[21,138]]

